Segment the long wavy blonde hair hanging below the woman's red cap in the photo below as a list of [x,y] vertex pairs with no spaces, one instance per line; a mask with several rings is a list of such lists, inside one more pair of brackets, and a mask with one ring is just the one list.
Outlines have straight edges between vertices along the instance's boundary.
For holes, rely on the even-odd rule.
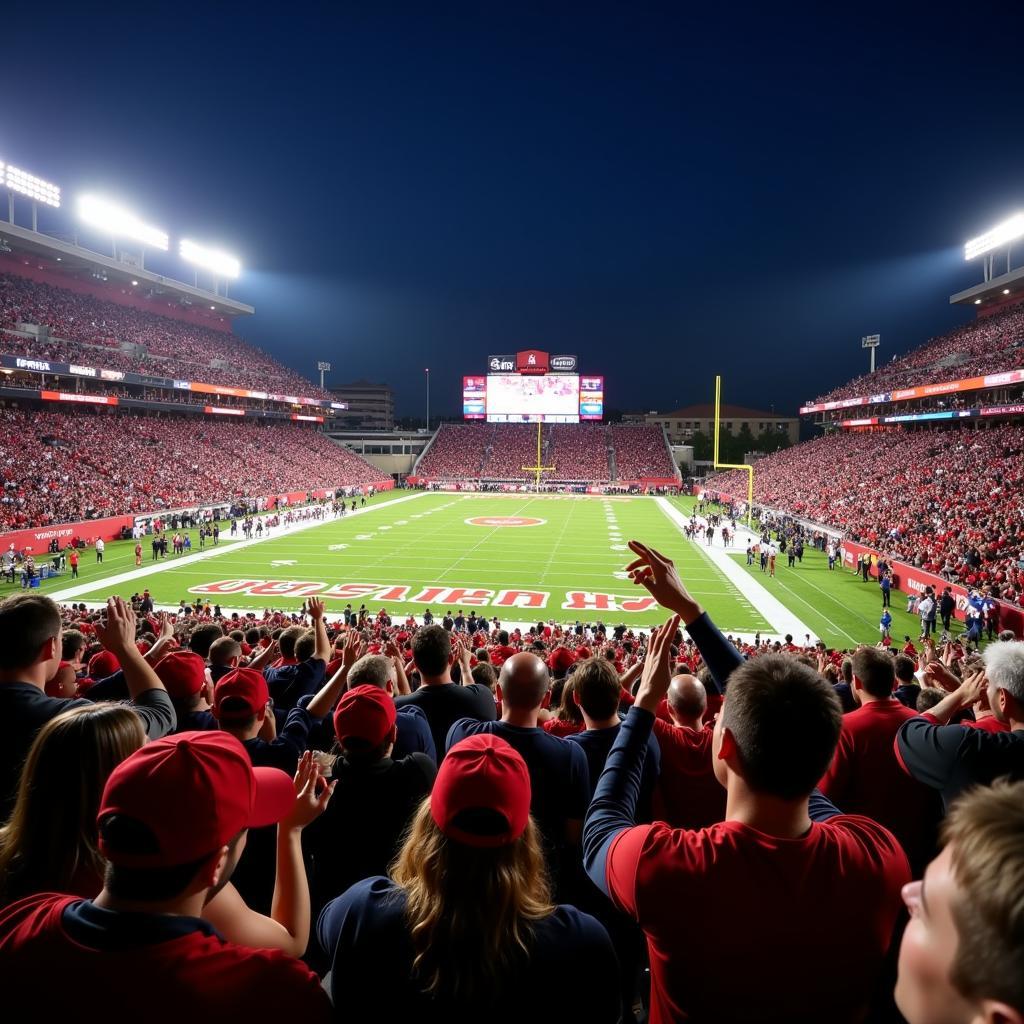
[[420,805],[391,877],[406,893],[413,973],[429,995],[498,1001],[529,956],[534,925],[555,907],[529,819],[509,846],[481,849],[450,840]]

